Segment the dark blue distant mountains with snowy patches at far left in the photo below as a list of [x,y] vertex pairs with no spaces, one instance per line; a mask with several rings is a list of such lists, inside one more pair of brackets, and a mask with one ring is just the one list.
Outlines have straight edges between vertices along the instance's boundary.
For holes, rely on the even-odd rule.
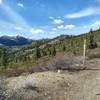
[[5,45],[5,46],[22,46],[26,44],[32,43],[33,40],[27,39],[22,36],[1,36],[0,37],[0,45]]

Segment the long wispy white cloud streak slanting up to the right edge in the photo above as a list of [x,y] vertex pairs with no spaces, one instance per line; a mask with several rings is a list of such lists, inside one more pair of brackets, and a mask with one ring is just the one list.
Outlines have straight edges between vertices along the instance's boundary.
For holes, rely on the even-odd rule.
[[72,14],[67,14],[67,15],[65,15],[65,18],[74,19],[74,18],[81,18],[81,17],[97,15],[97,14],[100,14],[100,8],[90,7],[90,8],[82,9],[82,10],[72,13]]

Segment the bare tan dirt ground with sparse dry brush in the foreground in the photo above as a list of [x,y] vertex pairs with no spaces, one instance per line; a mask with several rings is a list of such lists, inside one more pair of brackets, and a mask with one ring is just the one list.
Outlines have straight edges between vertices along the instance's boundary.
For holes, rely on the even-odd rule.
[[0,100],[100,100],[100,59],[90,60],[85,70],[6,78]]

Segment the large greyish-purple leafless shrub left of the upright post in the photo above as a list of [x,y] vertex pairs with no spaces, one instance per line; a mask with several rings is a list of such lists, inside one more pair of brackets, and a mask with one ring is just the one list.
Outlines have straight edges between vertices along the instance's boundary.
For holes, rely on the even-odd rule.
[[80,69],[81,57],[74,55],[57,55],[48,63],[48,68],[52,70],[76,70]]

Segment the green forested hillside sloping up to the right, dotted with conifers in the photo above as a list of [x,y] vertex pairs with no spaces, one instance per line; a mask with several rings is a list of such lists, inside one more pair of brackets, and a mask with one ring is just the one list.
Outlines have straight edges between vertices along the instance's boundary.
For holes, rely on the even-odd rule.
[[33,41],[22,47],[0,47],[0,72],[8,70],[27,71],[33,65],[47,62],[57,53],[82,55],[83,42],[87,40],[87,50],[95,49],[100,45],[100,29],[78,36],[61,35],[54,39]]

